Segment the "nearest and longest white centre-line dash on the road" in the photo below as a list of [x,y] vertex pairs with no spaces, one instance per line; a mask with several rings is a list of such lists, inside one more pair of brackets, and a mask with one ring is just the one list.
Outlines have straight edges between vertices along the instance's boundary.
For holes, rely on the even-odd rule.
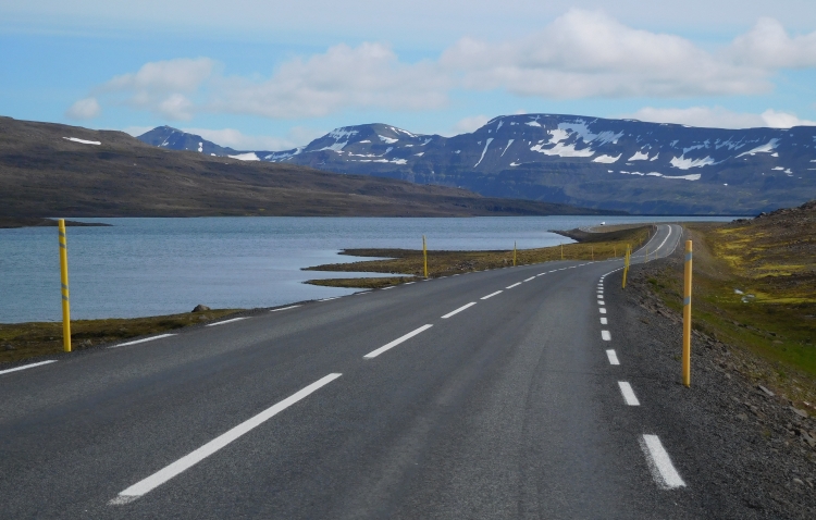
[[218,437],[213,438],[212,441],[205,444],[203,446],[196,449],[195,451],[191,451],[185,455],[181,459],[157,471],[156,473],[151,474],[147,479],[135,483],[131,487],[121,492],[119,496],[116,496],[116,498],[113,498],[108,504],[111,506],[121,506],[121,505],[128,504],[139,498],[146,493],[149,493],[150,491],[165,483],[173,476],[176,476],[183,471],[186,471],[187,469],[197,465],[198,462],[206,459],[210,455],[214,454],[219,449],[223,448],[224,446],[228,445],[233,441],[237,439],[245,433],[248,433],[255,428],[263,424],[265,421],[273,418],[277,413],[282,412],[286,408],[290,407],[295,403],[307,397],[309,394],[312,394],[313,392],[318,391],[322,386],[327,385],[329,383],[336,380],[342,374],[329,374],[325,377],[318,380],[314,383],[310,384],[306,388],[302,388],[301,391],[296,392],[295,394],[290,395],[284,400],[275,405],[272,405],[271,407],[267,408],[265,410],[252,417],[251,419],[248,419],[247,421],[242,422],[240,424],[227,431],[226,433],[223,433],[219,435]]

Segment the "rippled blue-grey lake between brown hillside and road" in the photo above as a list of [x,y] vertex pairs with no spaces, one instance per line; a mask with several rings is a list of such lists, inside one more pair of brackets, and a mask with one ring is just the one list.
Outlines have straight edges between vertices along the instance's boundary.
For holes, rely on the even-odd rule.
[[[532,248],[571,242],[547,230],[678,218],[473,219],[198,218],[76,219],[69,227],[74,319],[188,312],[196,305],[254,308],[354,293],[302,282],[350,277],[301,268],[345,262],[344,248]],[[682,220],[690,220],[683,218]],[[701,219],[713,220],[713,219]],[[730,220],[730,219],[721,219]],[[371,274],[361,274],[371,276]],[[57,228],[0,230],[0,323],[61,319]]]

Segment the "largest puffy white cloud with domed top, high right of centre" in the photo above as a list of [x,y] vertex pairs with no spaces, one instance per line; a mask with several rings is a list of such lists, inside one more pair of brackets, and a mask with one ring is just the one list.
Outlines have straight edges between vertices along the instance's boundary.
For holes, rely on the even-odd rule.
[[463,38],[441,64],[470,89],[519,96],[684,97],[771,88],[768,73],[714,55],[675,35],[633,29],[601,11],[570,10],[540,33],[487,44]]

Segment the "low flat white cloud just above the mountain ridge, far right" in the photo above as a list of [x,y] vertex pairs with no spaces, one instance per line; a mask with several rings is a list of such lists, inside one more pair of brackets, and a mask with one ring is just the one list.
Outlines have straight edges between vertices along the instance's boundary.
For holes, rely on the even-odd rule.
[[732,112],[722,107],[691,107],[688,109],[657,109],[646,107],[623,117],[653,123],[676,123],[710,128],[790,128],[791,126],[816,126],[816,122],[801,120],[795,114],[768,109],[762,114]]

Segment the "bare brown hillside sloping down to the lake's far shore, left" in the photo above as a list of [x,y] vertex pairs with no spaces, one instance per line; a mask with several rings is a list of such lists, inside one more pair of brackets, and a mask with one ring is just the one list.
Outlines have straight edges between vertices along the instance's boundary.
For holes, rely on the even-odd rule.
[[0,215],[4,216],[588,212],[530,200],[486,198],[443,186],[174,151],[146,145],[122,132],[0,117]]

